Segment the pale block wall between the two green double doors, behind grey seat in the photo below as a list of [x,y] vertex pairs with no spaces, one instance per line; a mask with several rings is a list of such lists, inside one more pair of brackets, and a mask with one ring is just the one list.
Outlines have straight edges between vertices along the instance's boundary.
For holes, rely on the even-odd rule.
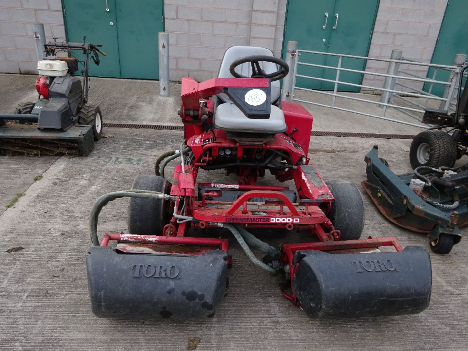
[[281,54],[286,0],[165,0],[170,80],[217,76],[230,46],[263,46]]

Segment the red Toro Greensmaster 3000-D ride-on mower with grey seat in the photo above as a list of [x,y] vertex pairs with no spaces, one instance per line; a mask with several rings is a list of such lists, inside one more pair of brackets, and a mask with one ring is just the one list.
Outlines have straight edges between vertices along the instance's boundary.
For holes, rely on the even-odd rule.
[[[357,187],[325,183],[309,164],[313,117],[280,101],[279,80],[288,71],[267,49],[231,47],[219,78],[183,78],[180,151],[162,154],[156,175],[139,176],[132,190],[106,194],[93,207],[87,269],[95,315],[213,317],[232,262],[228,240],[195,237],[195,228],[230,231],[256,266],[285,277],[283,295],[310,317],[416,314],[429,305],[427,252],[402,249],[395,238],[360,240],[364,205]],[[164,168],[176,159],[171,185]],[[238,181],[197,184],[200,169],[226,169]],[[293,180],[295,189],[257,184],[267,170],[278,183]],[[131,197],[130,234],[105,234],[99,243],[97,216],[118,197]],[[314,240],[275,248],[249,228],[297,230]],[[394,250],[378,249],[384,246]],[[250,247],[263,251],[263,260]]]

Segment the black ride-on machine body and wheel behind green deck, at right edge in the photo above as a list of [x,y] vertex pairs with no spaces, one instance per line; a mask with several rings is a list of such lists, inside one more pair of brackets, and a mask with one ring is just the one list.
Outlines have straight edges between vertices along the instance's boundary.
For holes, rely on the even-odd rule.
[[[411,167],[428,166],[452,168],[455,161],[468,151],[468,80],[463,87],[461,70],[455,112],[425,110],[423,123],[434,125],[429,130],[417,134],[409,148]],[[451,134],[450,134],[451,133]]]

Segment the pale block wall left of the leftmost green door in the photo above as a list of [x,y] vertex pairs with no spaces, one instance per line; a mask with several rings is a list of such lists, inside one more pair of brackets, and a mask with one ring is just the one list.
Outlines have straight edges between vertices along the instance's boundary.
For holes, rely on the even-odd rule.
[[0,0],[0,73],[37,74],[34,23],[65,40],[61,0]]

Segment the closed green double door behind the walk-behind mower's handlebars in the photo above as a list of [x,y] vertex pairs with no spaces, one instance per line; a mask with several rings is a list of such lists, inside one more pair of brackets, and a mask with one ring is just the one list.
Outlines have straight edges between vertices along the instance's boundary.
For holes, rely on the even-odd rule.
[[159,79],[163,0],[62,0],[69,42],[102,44],[97,77]]

